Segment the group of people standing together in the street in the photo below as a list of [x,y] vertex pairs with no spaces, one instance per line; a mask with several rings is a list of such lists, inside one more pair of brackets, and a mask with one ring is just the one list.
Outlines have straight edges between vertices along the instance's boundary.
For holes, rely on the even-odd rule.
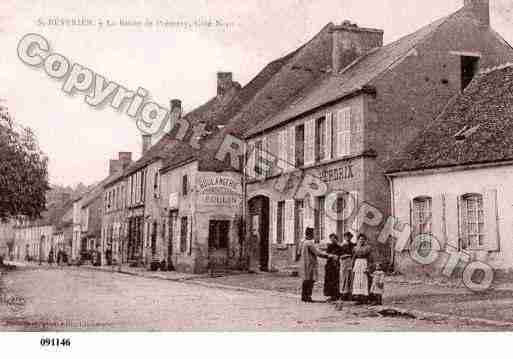
[[330,234],[326,251],[317,248],[314,229],[305,230],[301,246],[303,286],[301,300],[313,302],[312,292],[318,280],[318,258],[326,258],[324,295],[329,301],[356,301],[358,304],[382,304],[384,272],[372,260],[372,247],[364,234],[353,243],[353,234],[344,233],[342,241]]

